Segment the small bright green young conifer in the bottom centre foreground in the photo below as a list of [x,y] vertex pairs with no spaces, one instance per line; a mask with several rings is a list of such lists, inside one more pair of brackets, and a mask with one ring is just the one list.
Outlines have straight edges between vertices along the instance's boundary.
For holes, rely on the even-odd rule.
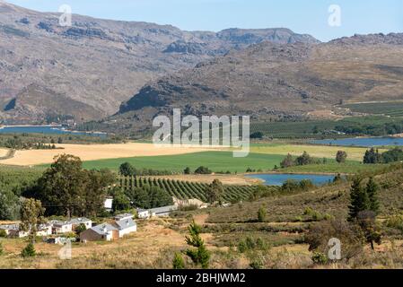
[[208,268],[210,252],[207,250],[204,240],[200,237],[201,227],[193,221],[188,226],[188,232],[186,243],[193,248],[186,250],[186,255],[192,259],[195,265],[201,265],[203,269]]

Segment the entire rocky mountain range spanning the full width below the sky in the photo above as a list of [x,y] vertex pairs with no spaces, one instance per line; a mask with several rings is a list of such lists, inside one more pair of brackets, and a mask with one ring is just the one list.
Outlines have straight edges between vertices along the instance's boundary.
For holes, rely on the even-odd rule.
[[60,27],[58,16],[0,2],[5,122],[73,117],[133,130],[174,108],[267,120],[403,100],[401,33],[321,43],[285,28],[184,31],[81,15]]

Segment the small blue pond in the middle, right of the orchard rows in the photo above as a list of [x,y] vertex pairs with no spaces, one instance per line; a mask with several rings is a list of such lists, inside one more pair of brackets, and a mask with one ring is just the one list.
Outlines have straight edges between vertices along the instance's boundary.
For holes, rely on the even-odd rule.
[[269,173],[269,174],[253,174],[247,175],[248,178],[258,178],[264,180],[267,186],[282,186],[286,180],[293,179],[301,181],[303,179],[310,179],[316,186],[323,186],[327,183],[333,182],[334,175],[320,175],[320,174],[285,174],[285,173]]

